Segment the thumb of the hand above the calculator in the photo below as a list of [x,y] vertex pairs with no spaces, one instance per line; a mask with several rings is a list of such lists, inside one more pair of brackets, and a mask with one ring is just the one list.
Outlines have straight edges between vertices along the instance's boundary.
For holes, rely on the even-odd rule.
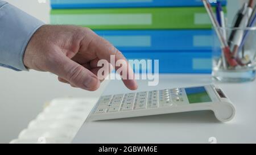
[[51,66],[53,66],[52,73],[57,74],[73,86],[89,91],[95,91],[100,87],[100,80],[96,75],[64,55],[59,56],[55,64]]

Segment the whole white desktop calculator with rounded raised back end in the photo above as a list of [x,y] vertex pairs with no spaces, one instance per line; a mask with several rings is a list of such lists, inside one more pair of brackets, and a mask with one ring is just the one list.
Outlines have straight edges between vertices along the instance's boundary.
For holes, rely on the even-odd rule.
[[102,96],[89,119],[109,120],[201,110],[212,110],[221,122],[232,120],[236,111],[220,88],[207,85]]

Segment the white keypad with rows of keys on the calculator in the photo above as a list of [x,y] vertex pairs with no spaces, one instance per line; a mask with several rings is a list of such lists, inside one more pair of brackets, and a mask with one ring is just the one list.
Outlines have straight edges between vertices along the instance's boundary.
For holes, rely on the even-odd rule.
[[125,112],[186,104],[184,89],[164,89],[103,96],[94,114]]

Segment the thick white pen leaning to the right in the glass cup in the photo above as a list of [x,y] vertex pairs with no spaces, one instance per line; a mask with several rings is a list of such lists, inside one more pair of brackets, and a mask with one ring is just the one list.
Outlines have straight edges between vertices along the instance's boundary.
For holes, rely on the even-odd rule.
[[247,9],[246,9],[245,15],[243,15],[243,18],[240,23],[240,26],[239,26],[240,30],[237,30],[236,34],[234,35],[234,39],[233,39],[234,48],[233,48],[233,52],[232,52],[233,57],[237,56],[237,52],[242,43],[243,30],[241,30],[241,29],[247,27],[252,13],[253,13],[253,0],[250,0],[249,4],[247,6]]

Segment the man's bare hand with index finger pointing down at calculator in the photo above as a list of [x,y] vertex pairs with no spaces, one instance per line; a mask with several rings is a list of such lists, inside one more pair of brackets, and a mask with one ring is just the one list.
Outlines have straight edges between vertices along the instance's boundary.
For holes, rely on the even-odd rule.
[[51,72],[59,76],[60,82],[94,91],[101,82],[97,77],[100,69],[97,62],[101,59],[110,62],[110,55],[115,56],[115,61],[124,60],[127,63],[127,78],[121,76],[123,83],[131,90],[137,89],[134,78],[128,78],[134,77],[134,73],[126,58],[89,28],[42,26],[31,37],[23,61],[28,69]]

